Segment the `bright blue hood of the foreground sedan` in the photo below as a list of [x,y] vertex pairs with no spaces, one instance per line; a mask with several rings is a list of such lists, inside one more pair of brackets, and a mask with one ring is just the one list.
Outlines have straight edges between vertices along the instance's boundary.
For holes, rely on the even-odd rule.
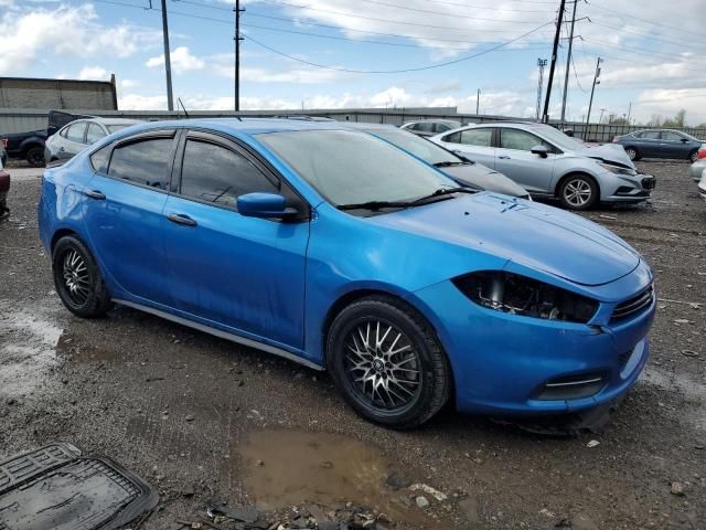
[[491,192],[376,215],[368,221],[586,286],[613,282],[640,263],[640,255],[628,243],[591,221]]

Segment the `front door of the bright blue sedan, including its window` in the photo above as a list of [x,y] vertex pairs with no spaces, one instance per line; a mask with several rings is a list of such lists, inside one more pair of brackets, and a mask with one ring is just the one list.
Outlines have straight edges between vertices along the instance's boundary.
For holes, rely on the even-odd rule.
[[191,131],[181,180],[164,208],[174,307],[240,335],[303,348],[309,222],[246,218],[237,198],[296,195],[248,151]]

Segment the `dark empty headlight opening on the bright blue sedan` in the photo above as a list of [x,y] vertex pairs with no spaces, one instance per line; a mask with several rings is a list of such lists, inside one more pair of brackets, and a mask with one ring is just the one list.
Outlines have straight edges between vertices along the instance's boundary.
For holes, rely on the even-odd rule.
[[453,284],[479,306],[523,317],[587,324],[598,309],[585,296],[500,271],[467,274]]

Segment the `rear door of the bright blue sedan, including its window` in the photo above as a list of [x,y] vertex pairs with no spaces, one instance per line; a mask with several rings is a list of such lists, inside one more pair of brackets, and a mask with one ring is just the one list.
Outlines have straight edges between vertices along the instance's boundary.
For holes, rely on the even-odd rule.
[[138,301],[170,305],[163,210],[174,136],[173,129],[150,131],[92,155],[95,176],[86,191],[90,245],[103,271]]

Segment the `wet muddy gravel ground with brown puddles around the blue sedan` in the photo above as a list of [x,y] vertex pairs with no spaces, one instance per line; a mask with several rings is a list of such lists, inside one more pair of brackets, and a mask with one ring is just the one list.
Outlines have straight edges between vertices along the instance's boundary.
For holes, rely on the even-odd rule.
[[[706,203],[686,162],[639,166],[657,178],[649,204],[587,216],[655,271],[652,358],[602,433],[568,438],[450,410],[386,431],[325,373],[126,308],[77,319],[38,239],[40,172],[14,169],[0,224],[0,459],[50,442],[108,455],[158,488],[154,530],[197,521],[207,502],[280,517],[318,504],[325,518],[346,501],[409,529],[704,529]],[[448,498],[426,494],[421,509],[409,483]]]

